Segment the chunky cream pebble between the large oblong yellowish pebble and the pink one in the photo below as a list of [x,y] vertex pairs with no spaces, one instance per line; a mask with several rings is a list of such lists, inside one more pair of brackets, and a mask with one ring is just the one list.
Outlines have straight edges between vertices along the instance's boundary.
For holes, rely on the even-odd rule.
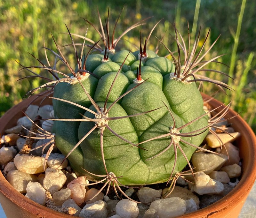
[[59,169],[47,168],[45,170],[44,188],[51,194],[59,191],[65,184],[67,177]]

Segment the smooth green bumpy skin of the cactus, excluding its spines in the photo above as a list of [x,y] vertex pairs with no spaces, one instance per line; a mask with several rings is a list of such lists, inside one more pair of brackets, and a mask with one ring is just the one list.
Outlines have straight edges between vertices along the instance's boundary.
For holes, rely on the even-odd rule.
[[[173,119],[165,105],[172,111],[176,128],[204,114],[203,99],[195,82],[185,84],[176,79],[170,79],[170,73],[173,73],[175,68],[172,62],[167,58],[158,57],[152,51],[147,52],[148,58],[143,61],[141,67],[141,77],[147,81],[120,99],[108,113],[109,117],[123,117],[159,108],[140,116],[108,121],[108,126],[112,130],[134,144],[170,132]],[[126,50],[116,52],[111,57],[112,61],[104,63],[101,63],[102,55],[88,56],[86,70],[93,72],[100,79],[90,75],[82,83],[99,107],[104,107],[109,88],[128,53]],[[130,53],[124,62],[125,67],[122,67],[110,92],[107,109],[112,104],[111,102],[136,86],[133,84],[133,79],[136,79],[134,70],[139,65],[138,54],[139,51]],[[96,112],[79,83],[58,84],[55,87],[54,96],[78,103]],[[58,118],[82,118],[79,113],[95,118],[94,114],[65,102],[54,100],[53,107],[55,116]],[[207,119],[206,115],[184,127],[180,132],[199,130],[208,125]],[[95,122],[55,121],[53,132],[57,147],[67,155],[72,146],[74,147],[93,126],[95,126]],[[181,139],[199,146],[207,132],[193,137],[181,137]],[[118,138],[106,128],[103,137],[106,168],[108,172],[113,172],[116,177],[120,177],[118,180],[124,185],[165,182],[169,179],[174,165],[173,146],[163,154],[150,160],[147,159],[161,152],[170,142],[171,137],[167,136],[139,144],[139,147],[136,147]],[[196,148],[183,142],[179,142],[179,144],[187,158],[190,159]],[[93,174],[106,175],[100,150],[99,128],[96,128],[68,156],[68,159],[78,174],[84,174],[91,180],[100,179],[82,168]],[[180,172],[186,165],[187,161],[177,149],[177,163],[174,172]]]

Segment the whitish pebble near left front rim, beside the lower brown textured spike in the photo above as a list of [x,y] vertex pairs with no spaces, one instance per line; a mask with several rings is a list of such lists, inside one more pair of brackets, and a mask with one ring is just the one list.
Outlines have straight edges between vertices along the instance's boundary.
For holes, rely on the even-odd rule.
[[29,182],[27,185],[27,194],[25,195],[29,199],[35,201],[38,204],[45,205],[46,198],[44,193],[46,190],[38,182]]

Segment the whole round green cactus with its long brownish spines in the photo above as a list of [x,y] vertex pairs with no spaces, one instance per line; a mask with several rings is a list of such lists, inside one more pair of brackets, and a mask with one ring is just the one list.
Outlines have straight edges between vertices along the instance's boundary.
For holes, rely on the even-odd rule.
[[[132,28],[140,25],[139,22]],[[102,24],[101,27],[103,30]],[[202,61],[204,55],[200,55],[208,35],[196,52],[198,35],[190,52],[184,43],[180,44],[176,28],[178,58],[159,40],[174,64],[146,49],[154,28],[143,49],[140,43],[138,51],[120,49],[117,52],[120,37],[114,41],[115,28],[116,25],[110,42],[107,19],[107,37],[98,31],[105,50],[96,42],[83,58],[85,40],[79,57],[69,33],[76,52],[75,70],[56,44],[59,54],[53,53],[66,64],[70,75],[45,65],[40,67],[63,76],[44,85],[54,85],[51,98],[55,144],[77,174],[86,175],[92,181],[105,181],[104,187],[111,183],[119,188],[119,185],[168,181],[187,164],[192,170],[191,155],[202,143],[209,125],[214,124],[208,124],[198,82],[209,81],[229,88],[224,83],[197,75],[220,56]],[[180,48],[184,58],[181,58]],[[103,53],[89,54],[92,49]]]

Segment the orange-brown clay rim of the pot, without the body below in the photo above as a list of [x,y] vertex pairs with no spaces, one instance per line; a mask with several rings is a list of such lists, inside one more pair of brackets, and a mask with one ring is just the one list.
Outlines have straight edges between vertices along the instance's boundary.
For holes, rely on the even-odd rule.
[[[44,93],[43,93],[44,94]],[[206,94],[202,94],[204,99],[209,99],[210,97]],[[25,99],[24,101],[20,102],[18,105],[14,106],[12,109],[8,110],[3,117],[0,118],[0,133],[4,132],[4,129],[6,129],[6,119],[7,117],[15,117],[20,113],[21,109],[24,109],[27,107],[29,102],[32,102],[36,96],[31,96],[29,99]],[[36,101],[35,101],[36,102]],[[37,101],[40,102],[40,101]],[[45,104],[45,103],[44,103]],[[217,107],[221,105],[222,103],[220,101],[217,101],[213,99],[211,102],[209,102],[210,105],[213,107]],[[224,106],[220,107],[219,110],[221,110]],[[16,111],[16,112],[14,112]],[[237,113],[233,110],[230,110],[227,117],[231,117],[236,115]],[[9,118],[10,120],[10,118]],[[184,214],[182,217],[209,217],[212,214],[219,213],[229,207],[229,205],[234,205],[238,203],[244,204],[244,200],[246,199],[247,195],[249,194],[254,181],[256,179],[256,137],[250,126],[243,120],[243,118],[238,115],[234,118],[235,123],[239,123],[239,126],[244,127],[246,134],[246,141],[251,144],[251,152],[249,153],[248,157],[248,165],[250,166],[250,170],[244,170],[241,180],[236,185],[236,187],[225,197],[217,201],[216,203],[213,203],[212,205],[205,207],[203,209],[200,209],[196,212]],[[234,122],[233,122],[234,123]],[[248,168],[248,167],[247,167]],[[36,202],[28,199],[21,193],[17,192],[11,184],[7,182],[7,180],[4,178],[3,174],[0,173],[0,192],[9,200],[11,200],[14,204],[16,204],[18,207],[25,209],[31,214],[35,215],[41,215],[42,217],[71,217],[67,214],[62,214],[56,211],[53,211],[45,206],[42,206],[40,204],[37,204]],[[209,213],[210,212],[210,213]],[[208,214],[208,215],[207,215]],[[54,215],[54,216],[53,216]],[[237,214],[238,215],[238,214]],[[73,217],[73,216],[72,216]]]

